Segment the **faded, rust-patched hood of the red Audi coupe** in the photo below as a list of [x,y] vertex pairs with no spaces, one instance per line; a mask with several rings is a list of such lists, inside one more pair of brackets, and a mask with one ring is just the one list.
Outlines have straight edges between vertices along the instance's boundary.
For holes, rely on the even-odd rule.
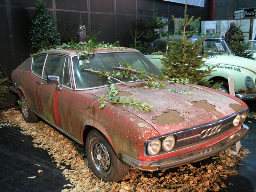
[[[146,112],[132,106],[118,105],[148,122],[161,135],[219,120],[247,108],[236,97],[191,84],[167,84],[165,88],[156,89],[132,83],[128,86],[118,85],[116,89],[120,100],[133,97],[135,102],[139,100],[154,106],[154,112]],[[102,97],[108,92],[92,94]]]

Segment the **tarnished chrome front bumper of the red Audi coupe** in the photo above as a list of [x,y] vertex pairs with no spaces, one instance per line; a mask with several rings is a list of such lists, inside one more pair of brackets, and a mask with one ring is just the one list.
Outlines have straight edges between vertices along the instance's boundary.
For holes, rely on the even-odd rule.
[[[235,144],[237,141],[243,139],[249,133],[248,126],[243,124],[243,127],[233,135],[228,138],[206,148],[202,148],[196,151],[191,151],[189,153],[181,154],[178,156],[173,156],[165,159],[155,160],[155,161],[140,161],[134,159],[130,156],[122,154],[122,160],[126,164],[140,170],[154,171],[161,169],[169,169],[173,167],[178,167],[191,162],[196,162],[207,158],[209,156],[215,155],[220,151],[228,148],[229,146]],[[151,169],[150,169],[151,168]]]

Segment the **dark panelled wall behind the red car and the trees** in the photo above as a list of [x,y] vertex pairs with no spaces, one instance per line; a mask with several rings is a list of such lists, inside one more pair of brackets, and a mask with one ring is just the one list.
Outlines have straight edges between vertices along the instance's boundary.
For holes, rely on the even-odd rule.
[[[7,74],[29,57],[28,33],[37,0],[0,0],[0,64]],[[150,8],[158,7],[157,16],[183,18],[184,4],[163,0],[44,0],[46,8],[56,22],[62,41],[68,40],[68,33],[76,36],[79,19],[85,26],[92,22],[89,34],[101,32],[97,41],[115,43],[121,46],[129,43],[129,31],[133,31],[135,19],[151,20]],[[210,0],[204,7],[188,5],[187,14],[201,20],[209,18]],[[38,26],[40,28],[40,26]],[[174,29],[174,22],[169,26]],[[62,42],[63,43],[63,42]],[[3,71],[3,69],[0,69]]]

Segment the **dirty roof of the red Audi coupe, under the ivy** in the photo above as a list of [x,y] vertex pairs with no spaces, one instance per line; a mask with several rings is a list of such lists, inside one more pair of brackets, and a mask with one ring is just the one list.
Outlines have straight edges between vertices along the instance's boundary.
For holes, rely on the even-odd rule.
[[[80,50],[78,53],[76,52],[77,49],[52,49],[47,51],[42,51],[39,54],[45,54],[45,53],[57,53],[57,54],[65,54],[69,56],[73,55],[79,55],[84,54],[82,50]],[[127,47],[115,47],[115,48],[102,48],[102,47],[96,47],[93,48],[93,51],[90,49],[87,50],[88,53],[100,53],[100,52],[127,52],[127,51],[135,51],[139,52],[136,49],[127,48]]]

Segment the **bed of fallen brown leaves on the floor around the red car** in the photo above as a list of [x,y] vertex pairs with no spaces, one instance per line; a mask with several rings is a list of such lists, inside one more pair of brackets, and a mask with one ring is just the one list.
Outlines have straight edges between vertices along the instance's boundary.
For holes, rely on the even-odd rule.
[[[52,157],[52,162],[62,170],[62,174],[72,183],[64,185],[67,191],[219,191],[225,189],[224,180],[237,174],[232,167],[250,152],[241,148],[238,155],[232,152],[235,146],[206,160],[187,164],[178,168],[144,172],[130,168],[126,177],[118,182],[105,182],[95,177],[88,165],[85,148],[70,140],[49,124],[42,121],[26,123],[17,108],[0,111],[0,128],[20,126],[22,133],[33,137],[34,146],[43,148]],[[40,170],[44,171],[44,170]],[[31,178],[33,179],[33,178]],[[70,188],[71,187],[71,188]]]

